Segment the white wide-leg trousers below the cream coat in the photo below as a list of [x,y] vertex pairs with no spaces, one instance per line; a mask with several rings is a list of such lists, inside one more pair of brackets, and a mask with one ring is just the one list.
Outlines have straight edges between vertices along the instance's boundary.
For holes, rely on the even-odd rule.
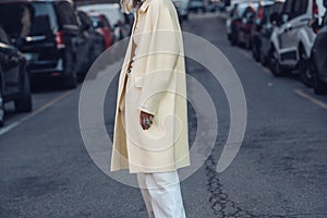
[[140,190],[150,218],[185,218],[177,171],[137,173]]

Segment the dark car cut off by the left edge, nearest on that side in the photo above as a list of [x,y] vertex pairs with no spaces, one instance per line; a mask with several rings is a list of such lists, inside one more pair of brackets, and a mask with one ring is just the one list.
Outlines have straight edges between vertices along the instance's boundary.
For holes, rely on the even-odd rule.
[[29,75],[24,55],[10,43],[0,26],[0,126],[4,123],[4,104],[14,101],[17,112],[32,111]]

